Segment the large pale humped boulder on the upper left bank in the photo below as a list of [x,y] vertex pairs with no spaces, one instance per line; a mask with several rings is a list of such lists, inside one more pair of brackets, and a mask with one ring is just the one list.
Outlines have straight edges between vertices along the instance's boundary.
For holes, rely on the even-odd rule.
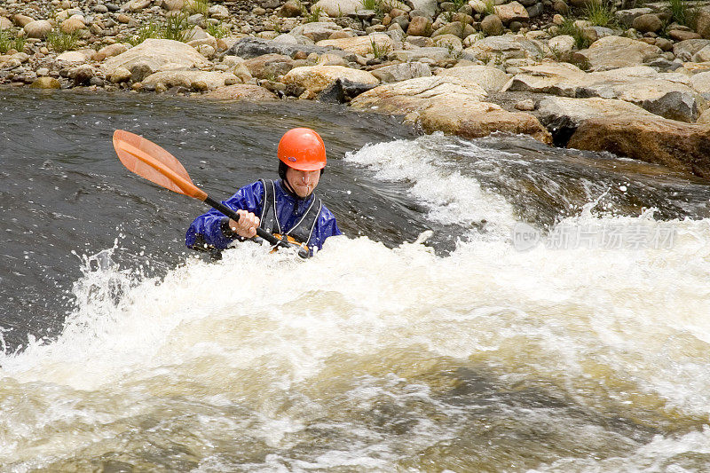
[[128,51],[106,59],[101,70],[108,76],[116,67],[130,70],[138,63],[145,63],[156,72],[166,68],[209,66],[209,61],[192,46],[170,39],[146,39]]

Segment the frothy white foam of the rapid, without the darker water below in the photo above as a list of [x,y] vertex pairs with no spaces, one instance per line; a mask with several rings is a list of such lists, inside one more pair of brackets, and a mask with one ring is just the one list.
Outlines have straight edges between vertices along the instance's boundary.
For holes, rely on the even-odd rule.
[[[162,280],[116,267],[110,251],[87,257],[75,287],[79,304],[59,339],[0,359],[7,389],[42,406],[29,419],[0,419],[0,431],[11,432],[0,463],[30,461],[38,452],[27,450],[27,438],[58,435],[47,433],[48,422],[108,426],[150,412],[161,398],[247,406],[262,426],[249,434],[266,445],[288,444],[338,397],[356,411],[382,396],[396,406],[416,397],[450,414],[454,407],[417,378],[440,359],[546,379],[581,405],[606,396],[613,406],[643,406],[652,398],[661,414],[710,414],[710,220],[672,222],[672,248],[518,252],[504,232],[513,222],[509,205],[475,180],[438,169],[418,141],[366,146],[348,159],[383,179],[413,181],[411,192],[433,218],[485,218],[501,232],[460,243],[448,256],[421,244],[389,249],[335,237],[301,262],[245,243],[215,264],[188,259]],[[651,213],[595,217],[591,206],[562,221],[654,222]],[[83,399],[79,390],[106,406],[62,401]],[[337,426],[353,435],[362,429],[355,420]],[[414,450],[455,435],[427,418],[414,431]],[[58,438],[40,453],[71,456],[101,435]],[[686,440],[674,445],[695,451],[697,442]],[[647,456],[666,441],[647,445]],[[387,469],[396,455],[382,442],[288,464]],[[269,458],[264,468],[287,468],[279,454]]]

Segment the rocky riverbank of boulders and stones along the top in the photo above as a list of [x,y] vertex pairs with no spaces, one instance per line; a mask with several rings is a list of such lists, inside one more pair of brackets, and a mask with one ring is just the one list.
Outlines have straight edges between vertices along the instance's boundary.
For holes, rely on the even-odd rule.
[[710,177],[710,3],[9,0],[0,83],[318,99]]

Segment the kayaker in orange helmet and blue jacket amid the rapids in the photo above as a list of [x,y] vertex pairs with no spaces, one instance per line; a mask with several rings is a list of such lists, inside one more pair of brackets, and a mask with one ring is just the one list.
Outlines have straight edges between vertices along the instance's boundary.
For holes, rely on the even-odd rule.
[[277,154],[280,179],[259,179],[223,201],[237,211],[238,222],[215,209],[195,218],[185,235],[188,248],[218,256],[233,240],[253,238],[262,227],[304,243],[313,253],[328,237],[342,234],[333,214],[313,193],[326,166],[326,146],[319,134],[308,128],[288,130]]

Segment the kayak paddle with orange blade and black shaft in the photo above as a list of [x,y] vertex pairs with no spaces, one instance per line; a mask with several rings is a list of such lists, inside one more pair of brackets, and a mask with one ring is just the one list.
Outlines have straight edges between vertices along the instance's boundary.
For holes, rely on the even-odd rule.
[[[215,201],[206,192],[193,184],[187,171],[172,154],[162,147],[156,145],[146,138],[125,130],[114,131],[114,149],[118,154],[123,166],[130,172],[144,177],[154,184],[170,189],[176,193],[182,193],[194,199],[205,202],[213,209],[222,212],[226,217],[239,221],[239,214],[233,209],[226,207],[222,202]],[[256,229],[256,235],[268,241],[274,246],[294,247],[284,240],[280,240],[263,228]],[[296,247],[298,248],[298,247]],[[308,250],[300,248],[298,256],[308,257]]]

